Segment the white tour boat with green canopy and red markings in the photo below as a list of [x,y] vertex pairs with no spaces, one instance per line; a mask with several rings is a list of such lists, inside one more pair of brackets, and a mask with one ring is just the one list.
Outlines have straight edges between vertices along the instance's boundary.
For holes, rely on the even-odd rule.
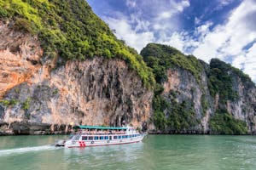
[[66,148],[101,146],[111,144],[130,144],[143,140],[146,133],[138,133],[133,127],[75,126],[75,133],[56,146]]

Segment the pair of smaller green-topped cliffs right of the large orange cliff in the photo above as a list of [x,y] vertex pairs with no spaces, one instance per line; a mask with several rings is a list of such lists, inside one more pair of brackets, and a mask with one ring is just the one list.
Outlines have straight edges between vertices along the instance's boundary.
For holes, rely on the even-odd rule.
[[219,59],[207,65],[160,44],[141,54],[160,87],[152,132],[256,133],[256,87],[247,75]]

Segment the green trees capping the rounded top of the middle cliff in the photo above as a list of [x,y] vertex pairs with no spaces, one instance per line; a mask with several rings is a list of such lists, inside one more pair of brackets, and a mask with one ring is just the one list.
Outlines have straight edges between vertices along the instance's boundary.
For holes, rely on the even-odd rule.
[[166,70],[179,67],[187,70],[200,82],[203,66],[193,55],[184,55],[176,48],[158,43],[148,43],[141,55],[149,67],[153,69],[156,82],[166,80]]

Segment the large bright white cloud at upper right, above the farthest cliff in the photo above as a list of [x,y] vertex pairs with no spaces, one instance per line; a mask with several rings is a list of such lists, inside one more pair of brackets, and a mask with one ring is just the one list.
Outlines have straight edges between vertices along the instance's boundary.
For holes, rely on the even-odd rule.
[[[244,65],[244,47],[256,38],[256,30],[248,26],[255,19],[248,20],[247,16],[256,12],[256,3],[247,0],[241,3],[229,16],[227,22],[222,26],[216,26],[212,31],[207,31],[199,46],[195,48],[195,56],[208,61],[211,58],[233,56],[233,65],[241,68]],[[254,23],[256,26],[256,23]],[[236,57],[238,56],[238,57]],[[255,56],[256,57],[256,56]],[[251,60],[251,59],[250,59]],[[245,71],[253,77],[253,65],[247,64]],[[254,70],[256,72],[256,70]]]

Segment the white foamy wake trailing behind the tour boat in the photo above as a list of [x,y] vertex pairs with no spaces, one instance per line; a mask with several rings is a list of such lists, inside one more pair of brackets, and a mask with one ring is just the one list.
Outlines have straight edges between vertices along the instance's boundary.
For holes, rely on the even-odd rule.
[[10,150],[0,150],[0,156],[9,156],[11,154],[22,154],[32,151],[41,151],[41,150],[56,150],[57,148],[53,145],[42,145],[34,147],[24,147],[24,148],[15,148]]

